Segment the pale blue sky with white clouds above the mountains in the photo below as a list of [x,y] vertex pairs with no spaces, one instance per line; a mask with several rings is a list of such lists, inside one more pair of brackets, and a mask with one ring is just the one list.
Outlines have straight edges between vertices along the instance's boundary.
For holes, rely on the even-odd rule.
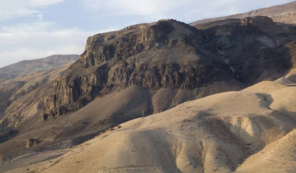
[[160,19],[185,23],[294,0],[0,0],[0,67],[82,54],[88,36]]

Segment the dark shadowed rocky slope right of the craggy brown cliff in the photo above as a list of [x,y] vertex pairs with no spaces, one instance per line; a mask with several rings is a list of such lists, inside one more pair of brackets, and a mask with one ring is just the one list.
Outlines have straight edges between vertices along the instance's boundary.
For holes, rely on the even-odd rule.
[[216,34],[216,51],[245,84],[275,80],[293,66],[295,56],[289,52],[294,48],[288,45],[294,44],[295,31],[293,25],[276,25],[270,18],[260,16],[204,30]]

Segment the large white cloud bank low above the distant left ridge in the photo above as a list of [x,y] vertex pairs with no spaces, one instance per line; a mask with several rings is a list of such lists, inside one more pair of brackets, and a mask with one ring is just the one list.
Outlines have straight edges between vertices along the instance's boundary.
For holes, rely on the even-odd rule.
[[116,30],[83,31],[78,28],[51,30],[52,22],[3,26],[0,32],[0,67],[24,59],[44,58],[54,54],[82,54],[86,39],[97,33]]

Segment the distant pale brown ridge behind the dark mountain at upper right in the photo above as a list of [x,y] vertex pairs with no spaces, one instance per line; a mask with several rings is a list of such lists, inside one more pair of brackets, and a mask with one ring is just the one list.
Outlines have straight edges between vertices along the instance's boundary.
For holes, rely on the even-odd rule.
[[230,19],[242,19],[253,16],[267,16],[271,18],[274,22],[296,24],[296,1],[268,8],[260,8],[257,10],[249,11],[247,13],[234,14],[225,17],[202,19],[192,22],[190,23],[190,25],[198,26],[199,24],[203,23],[219,22],[221,20]]

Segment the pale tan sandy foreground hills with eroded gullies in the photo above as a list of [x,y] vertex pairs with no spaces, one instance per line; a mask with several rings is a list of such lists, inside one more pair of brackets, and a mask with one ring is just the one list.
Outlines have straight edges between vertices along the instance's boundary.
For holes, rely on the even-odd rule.
[[44,173],[296,172],[296,87],[262,82],[103,133]]

